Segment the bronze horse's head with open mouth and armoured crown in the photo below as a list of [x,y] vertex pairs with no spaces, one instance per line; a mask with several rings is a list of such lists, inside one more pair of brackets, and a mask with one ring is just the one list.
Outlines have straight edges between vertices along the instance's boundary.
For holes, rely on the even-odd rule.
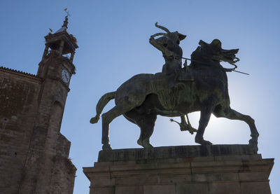
[[[222,43],[218,39],[214,39],[211,43],[206,43],[200,40],[200,56],[203,60],[211,60],[212,62],[228,62],[235,65],[239,58],[235,56],[239,49],[225,50],[222,48]],[[193,54],[192,54],[193,57]],[[198,56],[197,56],[198,57]],[[199,60],[197,58],[197,60]]]

